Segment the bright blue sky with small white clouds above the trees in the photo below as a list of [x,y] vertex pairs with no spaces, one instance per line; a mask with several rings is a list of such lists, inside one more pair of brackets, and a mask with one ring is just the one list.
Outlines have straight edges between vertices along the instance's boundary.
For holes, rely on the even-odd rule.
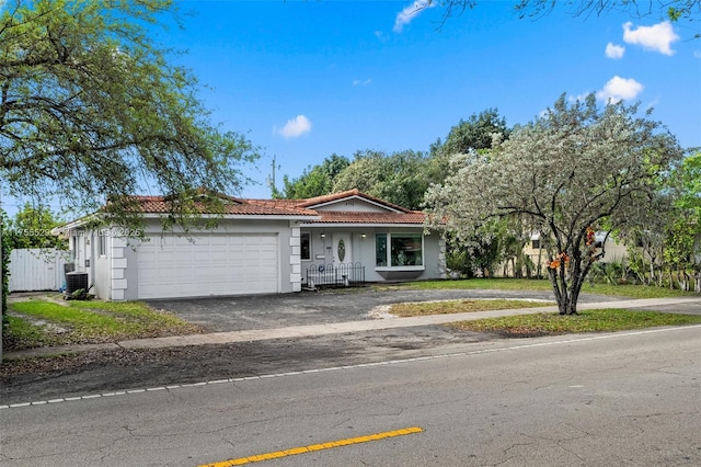
[[[420,0],[423,1],[423,0]],[[440,25],[444,10],[412,1],[180,1],[183,30],[157,43],[203,84],[212,121],[299,176],[332,153],[428,150],[451,126],[490,107],[524,124],[563,93],[655,107],[683,147],[701,146],[701,27],[565,8],[519,20],[514,2],[480,1]],[[12,210],[12,206],[8,207]]]

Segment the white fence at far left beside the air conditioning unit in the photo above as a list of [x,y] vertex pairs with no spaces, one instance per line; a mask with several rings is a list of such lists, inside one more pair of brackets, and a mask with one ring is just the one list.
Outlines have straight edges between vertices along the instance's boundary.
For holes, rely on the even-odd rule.
[[54,248],[28,248],[10,253],[10,292],[58,291],[70,253]]

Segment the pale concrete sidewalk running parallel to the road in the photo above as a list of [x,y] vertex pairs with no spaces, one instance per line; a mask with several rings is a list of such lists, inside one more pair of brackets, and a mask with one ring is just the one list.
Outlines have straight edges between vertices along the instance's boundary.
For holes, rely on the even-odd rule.
[[[602,308],[646,308],[674,305],[701,304],[701,297],[691,298],[645,298],[635,300],[618,300],[601,303],[581,303],[579,310]],[[410,328],[421,326],[445,324],[456,321],[469,321],[483,318],[499,318],[504,316],[529,315],[538,312],[555,312],[556,306],[538,308],[504,309],[494,311],[475,311],[451,315],[432,315],[412,318],[387,317],[375,320],[346,321],[337,323],[291,326],[277,329],[256,329],[233,332],[216,332],[210,334],[172,335],[154,339],[135,339],[116,343],[77,344],[54,348],[28,349],[16,352],[4,352],[5,360],[27,358],[53,354],[79,353],[100,350],[117,349],[164,349],[184,345],[228,344],[235,342],[253,342],[273,339],[309,338],[325,334],[343,334],[349,332],[377,331],[382,329]],[[701,308],[699,308],[701,314]]]

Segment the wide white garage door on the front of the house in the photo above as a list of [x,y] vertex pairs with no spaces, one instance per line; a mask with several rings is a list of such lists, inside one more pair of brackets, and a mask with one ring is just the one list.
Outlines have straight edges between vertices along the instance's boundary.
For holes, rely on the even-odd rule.
[[275,235],[154,236],[138,248],[139,298],[278,292]]

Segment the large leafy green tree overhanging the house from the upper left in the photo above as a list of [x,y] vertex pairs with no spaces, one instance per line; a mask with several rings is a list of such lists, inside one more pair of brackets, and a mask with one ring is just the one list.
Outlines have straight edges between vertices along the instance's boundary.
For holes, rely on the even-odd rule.
[[[197,80],[172,65],[150,27],[172,0],[7,0],[0,11],[0,176],[13,195],[139,224],[129,195],[173,200],[186,224],[202,193],[235,192],[256,149],[221,133]],[[199,196],[196,194],[199,193]],[[199,205],[200,206],[200,205]]]

